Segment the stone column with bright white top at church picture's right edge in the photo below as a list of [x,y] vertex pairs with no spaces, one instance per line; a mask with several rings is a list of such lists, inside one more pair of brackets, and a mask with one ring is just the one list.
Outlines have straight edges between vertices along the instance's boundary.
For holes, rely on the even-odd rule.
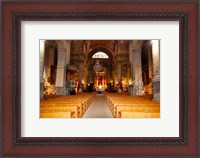
[[154,101],[160,102],[160,41],[152,41]]

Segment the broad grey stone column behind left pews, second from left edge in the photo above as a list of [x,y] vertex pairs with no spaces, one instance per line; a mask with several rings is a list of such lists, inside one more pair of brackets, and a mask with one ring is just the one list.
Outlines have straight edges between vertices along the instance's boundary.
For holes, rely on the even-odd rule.
[[66,89],[66,68],[70,62],[70,41],[58,41],[56,95],[69,95]]

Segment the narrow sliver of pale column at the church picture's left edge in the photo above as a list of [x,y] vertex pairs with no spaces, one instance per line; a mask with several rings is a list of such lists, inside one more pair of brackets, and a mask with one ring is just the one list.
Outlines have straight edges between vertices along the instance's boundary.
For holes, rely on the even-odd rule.
[[44,93],[44,56],[45,56],[45,41],[40,40],[40,99],[43,99]]

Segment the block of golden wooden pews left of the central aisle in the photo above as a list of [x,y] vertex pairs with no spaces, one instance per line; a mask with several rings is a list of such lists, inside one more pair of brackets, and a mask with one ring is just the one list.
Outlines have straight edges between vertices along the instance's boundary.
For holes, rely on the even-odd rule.
[[81,118],[96,93],[54,96],[40,101],[40,118]]

